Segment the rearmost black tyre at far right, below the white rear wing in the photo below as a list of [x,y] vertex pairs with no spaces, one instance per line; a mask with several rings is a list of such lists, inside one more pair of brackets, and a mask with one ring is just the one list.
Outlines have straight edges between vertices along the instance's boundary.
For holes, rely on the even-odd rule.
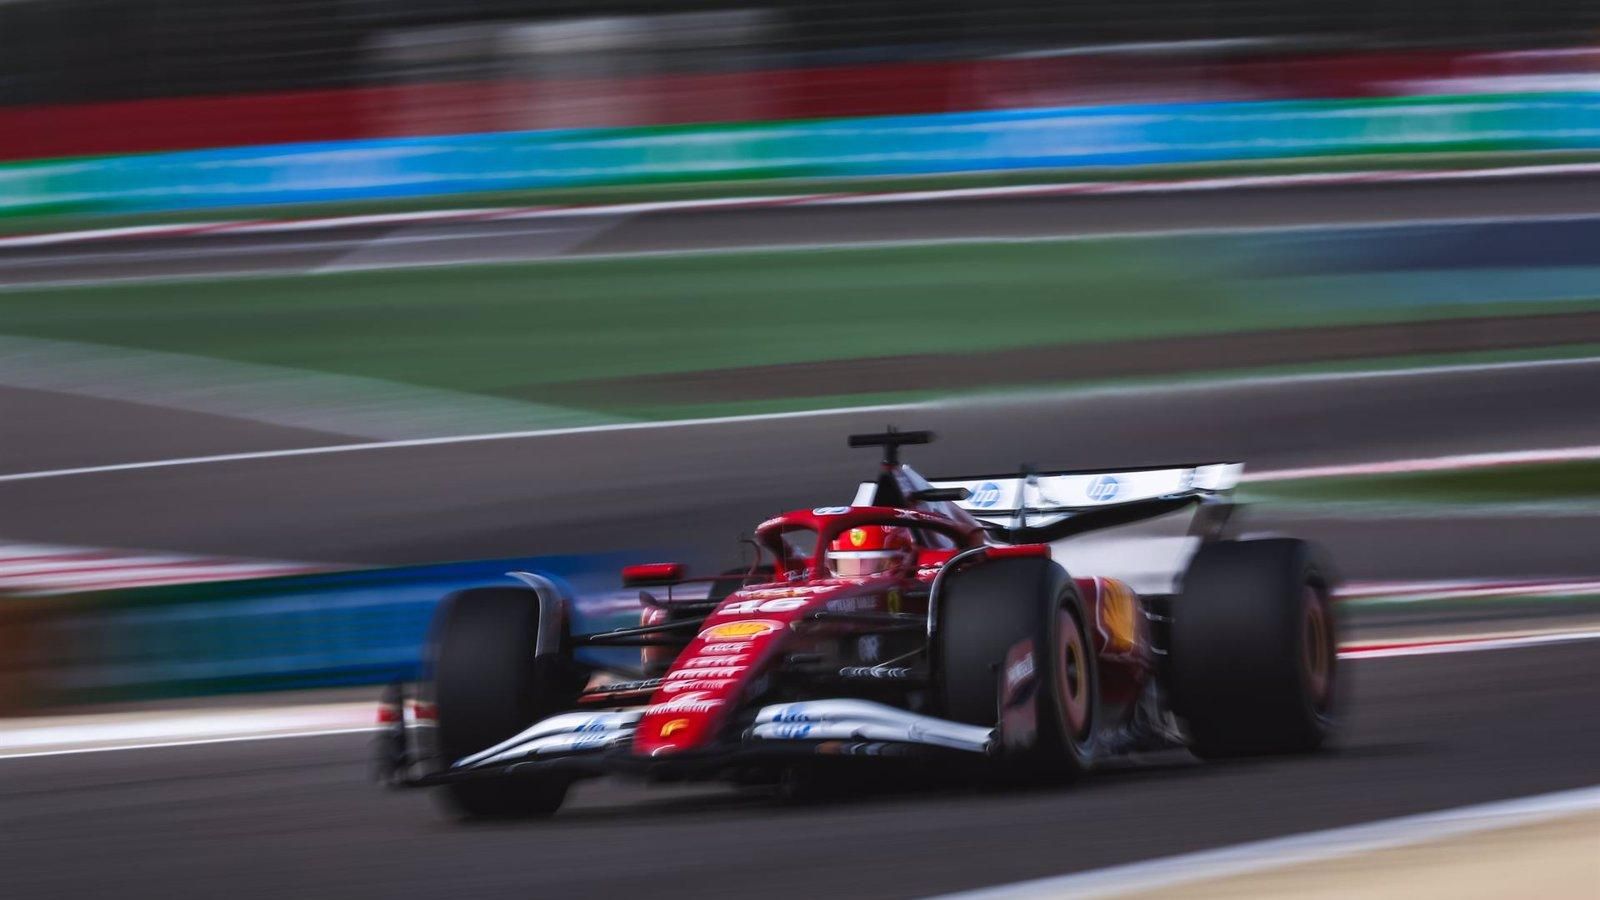
[[1331,573],[1301,540],[1205,544],[1173,602],[1173,701],[1202,757],[1309,753],[1338,708]]

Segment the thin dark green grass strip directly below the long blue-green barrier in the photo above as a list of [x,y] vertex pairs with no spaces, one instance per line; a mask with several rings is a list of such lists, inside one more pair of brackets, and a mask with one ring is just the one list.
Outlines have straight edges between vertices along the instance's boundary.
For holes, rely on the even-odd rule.
[[478,194],[442,194],[386,200],[338,203],[278,203],[264,207],[229,207],[216,210],[174,210],[158,213],[62,213],[0,216],[0,234],[30,234],[90,227],[126,227],[141,224],[194,223],[218,219],[275,219],[290,216],[346,216],[398,213],[413,210],[454,210],[474,207],[525,207],[544,203],[637,203],[653,200],[690,200],[704,197],[755,197],[782,194],[834,194],[851,191],[936,191],[955,187],[1002,187],[1013,184],[1050,184],[1074,181],[1138,181],[1170,178],[1213,178],[1243,175],[1299,175],[1315,171],[1362,171],[1373,168],[1450,170],[1509,165],[1552,165],[1595,162],[1600,154],[1571,151],[1542,152],[1448,152],[1304,157],[1285,160],[1240,160],[1221,163],[1139,165],[1117,168],[1040,168],[976,171],[957,175],[920,175],[894,178],[829,178],[829,179],[750,179],[709,181],[690,184],[634,184],[614,187],[566,187],[538,191],[496,191]]

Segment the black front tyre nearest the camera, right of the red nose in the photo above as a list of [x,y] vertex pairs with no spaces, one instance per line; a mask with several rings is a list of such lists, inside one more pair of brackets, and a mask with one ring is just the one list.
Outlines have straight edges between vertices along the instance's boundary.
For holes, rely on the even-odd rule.
[[994,725],[1006,653],[1034,642],[1037,737],[1011,762],[1032,777],[1074,777],[1091,764],[1099,676],[1083,602],[1050,559],[1000,559],[949,575],[931,647],[944,714]]

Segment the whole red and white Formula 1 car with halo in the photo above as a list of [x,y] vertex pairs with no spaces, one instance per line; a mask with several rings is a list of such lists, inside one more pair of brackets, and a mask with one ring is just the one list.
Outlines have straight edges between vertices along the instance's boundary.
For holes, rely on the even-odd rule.
[[[1061,778],[1131,751],[1320,746],[1334,713],[1331,573],[1299,540],[1227,540],[1240,466],[928,482],[866,434],[850,506],[755,530],[739,575],[630,565],[642,623],[573,634],[534,573],[440,605],[427,677],[384,703],[392,785],[467,815],[547,815],[584,777],[726,778],[787,791],[893,765]],[[1192,509],[1176,589],[1069,575],[1075,535]],[[586,649],[638,647],[637,665]],[[616,653],[613,653],[614,657]],[[859,770],[859,769],[858,769]]]

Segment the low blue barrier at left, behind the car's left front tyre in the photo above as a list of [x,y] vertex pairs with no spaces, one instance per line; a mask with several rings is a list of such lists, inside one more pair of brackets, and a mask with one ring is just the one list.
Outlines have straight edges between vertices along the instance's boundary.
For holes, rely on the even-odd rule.
[[578,629],[637,623],[622,562],[544,556],[51,597],[27,604],[27,650],[0,668],[21,673],[30,706],[410,679],[438,601],[515,586],[510,570],[557,580]]

